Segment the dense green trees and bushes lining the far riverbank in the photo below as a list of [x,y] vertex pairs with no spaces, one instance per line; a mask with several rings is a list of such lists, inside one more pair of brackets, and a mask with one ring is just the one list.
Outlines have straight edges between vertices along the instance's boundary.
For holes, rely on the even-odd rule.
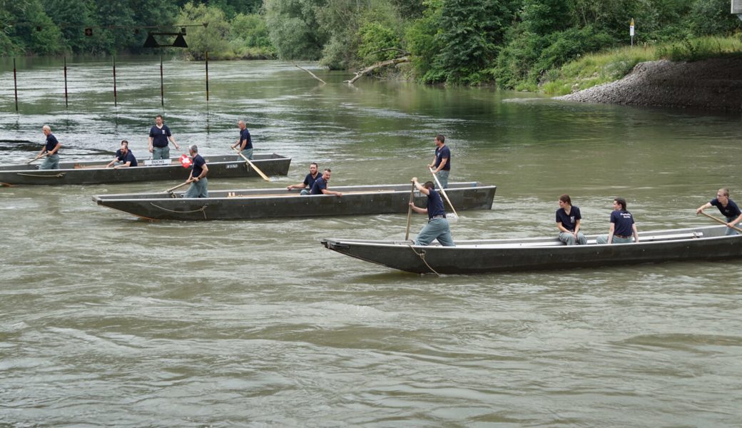
[[742,29],[729,0],[0,0],[0,55],[142,53],[152,27],[188,24],[191,59],[352,69],[405,56],[401,72],[421,82],[534,89],[628,45],[631,19],[644,49]]

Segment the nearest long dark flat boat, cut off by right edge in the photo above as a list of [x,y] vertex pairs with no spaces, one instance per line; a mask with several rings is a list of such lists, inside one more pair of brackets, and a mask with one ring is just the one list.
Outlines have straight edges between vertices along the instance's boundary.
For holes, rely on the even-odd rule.
[[418,274],[482,274],[536,269],[575,269],[662,263],[679,260],[724,260],[742,257],[742,235],[725,236],[726,226],[645,231],[639,243],[566,246],[556,237],[457,240],[456,247],[414,246],[411,241],[324,239],[332,251]]

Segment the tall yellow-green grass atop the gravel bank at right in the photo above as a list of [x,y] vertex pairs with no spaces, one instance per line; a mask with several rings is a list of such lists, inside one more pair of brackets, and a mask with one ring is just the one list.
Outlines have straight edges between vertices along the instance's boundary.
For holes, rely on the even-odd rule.
[[559,96],[614,82],[626,76],[640,62],[658,59],[698,61],[728,55],[742,55],[740,37],[701,37],[654,46],[619,47],[591,53],[562,68],[548,70],[542,79],[541,91]]

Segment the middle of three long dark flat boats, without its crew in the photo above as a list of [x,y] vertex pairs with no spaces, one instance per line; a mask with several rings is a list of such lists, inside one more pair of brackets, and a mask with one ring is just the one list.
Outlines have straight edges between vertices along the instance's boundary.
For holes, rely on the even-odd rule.
[[[98,205],[125,211],[149,220],[251,220],[271,217],[316,217],[407,213],[411,185],[331,186],[335,195],[299,196],[286,188],[211,191],[208,198],[183,198],[185,192],[103,194]],[[496,186],[480,182],[449,183],[446,194],[459,210],[490,209]],[[415,192],[417,205],[424,194]]]

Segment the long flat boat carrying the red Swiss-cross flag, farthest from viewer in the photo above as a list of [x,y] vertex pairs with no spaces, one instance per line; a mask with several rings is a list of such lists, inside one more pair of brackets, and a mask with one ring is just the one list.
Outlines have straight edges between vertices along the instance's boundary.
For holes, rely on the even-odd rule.
[[[250,165],[237,154],[206,156],[209,178],[260,177]],[[183,168],[180,159],[173,157],[156,165],[145,165],[146,159],[134,168],[105,168],[109,160],[85,162],[59,162],[59,169],[36,169],[34,165],[0,166],[0,182],[11,185],[63,185],[99,184],[106,182],[137,182],[154,180],[188,180],[190,168]],[[158,161],[154,161],[157,163]],[[252,161],[266,175],[289,174],[291,158],[278,154],[255,154]]]

